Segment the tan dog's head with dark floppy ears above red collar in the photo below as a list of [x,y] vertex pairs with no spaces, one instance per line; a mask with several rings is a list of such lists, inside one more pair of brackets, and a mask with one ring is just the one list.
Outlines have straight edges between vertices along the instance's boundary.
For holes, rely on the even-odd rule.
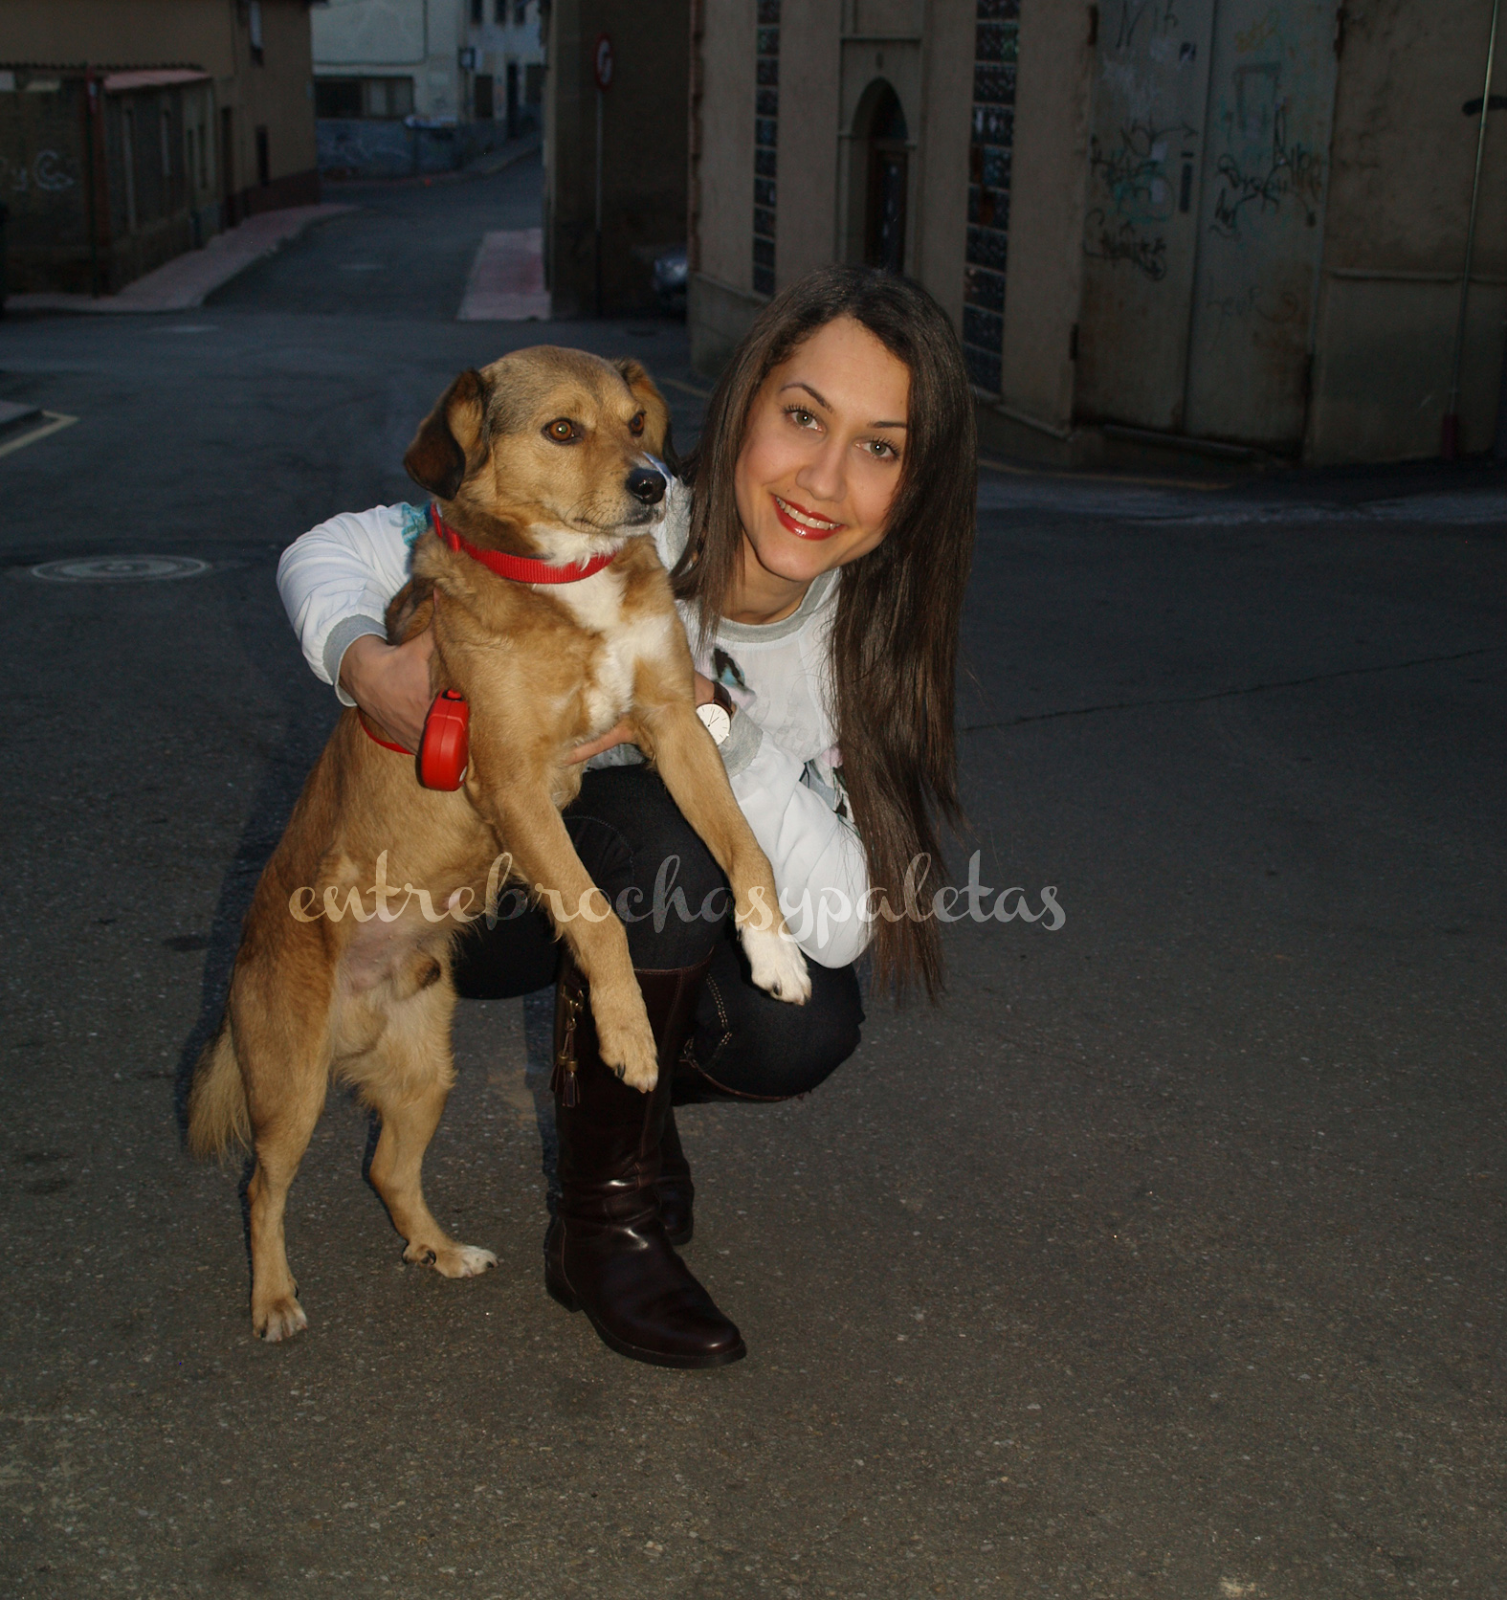
[[461,373],[403,466],[458,525],[570,560],[659,522],[669,432],[637,362],[541,344]]

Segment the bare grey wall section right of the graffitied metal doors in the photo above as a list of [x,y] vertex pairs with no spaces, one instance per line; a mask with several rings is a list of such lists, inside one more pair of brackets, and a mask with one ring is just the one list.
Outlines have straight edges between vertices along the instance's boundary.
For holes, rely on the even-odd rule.
[[[1433,456],[1449,387],[1489,0],[1345,6],[1307,454]],[[1507,40],[1493,91],[1507,91]],[[1488,123],[1461,446],[1496,434],[1507,298],[1507,122]]]

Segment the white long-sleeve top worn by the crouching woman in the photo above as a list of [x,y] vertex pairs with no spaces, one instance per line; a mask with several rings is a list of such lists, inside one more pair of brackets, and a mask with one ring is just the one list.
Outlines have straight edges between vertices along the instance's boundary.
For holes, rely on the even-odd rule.
[[[654,531],[659,558],[674,566],[690,536],[691,496],[672,480]],[[413,546],[429,526],[421,506],[376,506],[322,522],[283,552],[277,587],[315,675],[339,688],[341,661],[365,634],[387,637],[387,602],[408,582]],[[824,573],[781,622],[722,621],[696,650],[694,610],[682,621],[696,667],[725,685],[738,706],[722,746],[733,794],[774,869],[781,907],[800,947],[824,966],[846,966],[869,942],[864,846],[853,829],[833,747],[829,640],[838,574]],[[632,746],[589,765],[637,760]]]

